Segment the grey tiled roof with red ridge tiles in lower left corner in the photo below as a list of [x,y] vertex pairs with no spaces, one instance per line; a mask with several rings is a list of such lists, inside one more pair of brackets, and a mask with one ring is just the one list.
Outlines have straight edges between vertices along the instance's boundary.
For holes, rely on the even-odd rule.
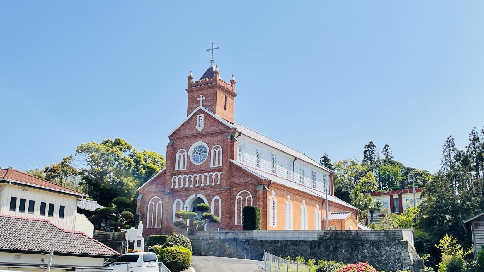
[[54,252],[69,255],[114,257],[116,250],[80,231],[68,231],[45,219],[0,215],[0,251]]

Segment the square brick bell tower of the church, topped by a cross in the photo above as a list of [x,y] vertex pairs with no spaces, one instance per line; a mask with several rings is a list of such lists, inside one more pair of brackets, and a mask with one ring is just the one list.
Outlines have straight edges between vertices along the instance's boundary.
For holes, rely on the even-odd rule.
[[209,68],[203,73],[200,79],[193,81],[194,77],[192,71],[190,71],[190,74],[187,76],[187,115],[200,106],[200,95],[203,95],[205,98],[203,101],[204,107],[223,119],[233,122],[234,100],[235,96],[237,96],[237,93],[235,93],[236,81],[234,75],[232,75],[229,83],[220,77],[218,66],[215,65],[215,61],[213,60],[213,51],[218,48],[219,47],[214,47],[214,43],[212,42],[212,48],[207,49],[207,51],[212,51],[212,60],[210,60]]

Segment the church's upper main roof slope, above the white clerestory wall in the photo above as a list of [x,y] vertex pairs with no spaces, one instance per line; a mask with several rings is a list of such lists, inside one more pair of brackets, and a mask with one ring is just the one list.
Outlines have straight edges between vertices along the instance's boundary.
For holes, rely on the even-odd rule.
[[271,138],[269,138],[268,136],[265,136],[261,133],[258,133],[257,131],[255,130],[252,130],[242,124],[239,124],[239,123],[234,123],[235,124],[235,128],[237,129],[237,131],[239,131],[240,133],[242,133],[243,135],[245,136],[248,136],[250,138],[253,138],[259,142],[262,142],[268,146],[272,146],[273,148],[275,149],[278,149],[280,151],[283,151],[293,157],[297,157],[298,159],[310,164],[310,165],[313,165],[313,166],[317,166],[318,168],[321,168],[321,169],[324,169],[330,173],[333,173],[333,171],[326,167],[326,166],[323,166],[321,164],[319,164],[317,161],[315,161],[313,158],[309,157],[308,155],[302,153],[302,152],[299,152],[295,149],[292,149],[290,147],[288,147],[287,145],[285,144],[282,144],[276,140],[273,140]]

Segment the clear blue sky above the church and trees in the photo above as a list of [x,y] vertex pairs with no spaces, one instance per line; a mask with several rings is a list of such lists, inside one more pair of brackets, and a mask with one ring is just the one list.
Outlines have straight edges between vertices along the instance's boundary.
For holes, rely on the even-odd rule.
[[0,166],[122,137],[165,154],[212,40],[236,121],[333,161],[439,169],[484,125],[484,1],[1,1]]

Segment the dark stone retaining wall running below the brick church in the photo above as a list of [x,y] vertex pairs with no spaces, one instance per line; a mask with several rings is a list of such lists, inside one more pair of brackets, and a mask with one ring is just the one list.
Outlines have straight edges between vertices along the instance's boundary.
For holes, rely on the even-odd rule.
[[[371,233],[369,233],[371,232]],[[400,234],[398,234],[400,233]],[[282,257],[333,260],[344,263],[368,261],[378,270],[423,269],[423,261],[398,231],[319,231],[319,240],[261,240],[249,233],[245,239],[227,233],[199,232],[190,236],[194,255],[262,259],[264,251]],[[241,235],[240,231],[231,236]],[[214,238],[217,236],[217,238]],[[225,237],[225,238],[221,238]],[[251,237],[251,238],[249,238]]]

